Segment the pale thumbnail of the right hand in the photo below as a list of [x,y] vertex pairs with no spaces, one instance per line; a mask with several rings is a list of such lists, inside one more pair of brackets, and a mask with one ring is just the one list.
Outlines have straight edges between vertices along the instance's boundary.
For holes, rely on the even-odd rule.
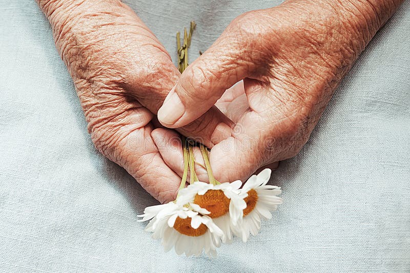
[[161,123],[172,125],[182,117],[183,113],[185,113],[185,105],[182,104],[178,94],[175,93],[174,86],[158,110],[158,120]]

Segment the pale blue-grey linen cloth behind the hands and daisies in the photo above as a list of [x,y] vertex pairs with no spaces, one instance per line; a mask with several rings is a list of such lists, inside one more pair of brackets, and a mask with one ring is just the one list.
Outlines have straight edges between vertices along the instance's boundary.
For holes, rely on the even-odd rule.
[[[237,15],[279,1],[128,0],[191,60]],[[34,1],[0,0],[1,272],[409,272],[410,3],[347,74],[272,183],[284,203],[218,257],[164,253],[136,215],[157,202],[93,147],[72,80]],[[175,59],[175,58],[174,58]]]

